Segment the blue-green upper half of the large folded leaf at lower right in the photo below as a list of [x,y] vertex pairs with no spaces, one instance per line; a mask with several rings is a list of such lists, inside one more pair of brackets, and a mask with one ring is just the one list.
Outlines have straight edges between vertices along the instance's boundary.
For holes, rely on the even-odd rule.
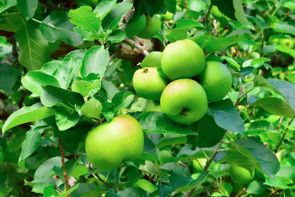
[[255,157],[256,162],[261,164],[267,176],[274,178],[274,175],[280,169],[280,163],[272,151],[254,137],[238,139],[236,143],[247,149]]

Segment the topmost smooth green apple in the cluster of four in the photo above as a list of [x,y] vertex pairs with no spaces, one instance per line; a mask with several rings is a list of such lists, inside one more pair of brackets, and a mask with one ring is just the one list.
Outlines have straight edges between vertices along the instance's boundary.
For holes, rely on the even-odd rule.
[[168,44],[161,59],[164,74],[171,80],[192,78],[205,66],[205,55],[193,40],[177,40]]

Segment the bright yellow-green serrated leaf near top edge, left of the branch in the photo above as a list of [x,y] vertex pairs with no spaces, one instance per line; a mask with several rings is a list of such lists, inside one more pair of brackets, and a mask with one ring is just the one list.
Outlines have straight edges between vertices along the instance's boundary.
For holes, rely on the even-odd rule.
[[90,6],[81,6],[78,9],[71,9],[69,12],[70,22],[85,31],[98,33],[101,19],[96,18],[96,12],[92,13]]

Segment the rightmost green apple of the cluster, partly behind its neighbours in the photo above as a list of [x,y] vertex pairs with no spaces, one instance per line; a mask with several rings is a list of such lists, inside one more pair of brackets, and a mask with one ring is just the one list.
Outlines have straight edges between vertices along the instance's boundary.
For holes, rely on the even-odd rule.
[[231,90],[233,77],[229,69],[220,62],[206,62],[205,68],[197,76],[203,86],[208,102],[222,100]]

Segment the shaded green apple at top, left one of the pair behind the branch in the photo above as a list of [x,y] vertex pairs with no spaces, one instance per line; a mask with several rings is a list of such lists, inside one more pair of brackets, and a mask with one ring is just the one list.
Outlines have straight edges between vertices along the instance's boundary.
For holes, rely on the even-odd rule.
[[127,26],[126,26],[126,35],[130,38],[132,38],[135,35],[138,35],[141,33],[147,24],[146,16],[143,14],[139,18],[131,19]]

